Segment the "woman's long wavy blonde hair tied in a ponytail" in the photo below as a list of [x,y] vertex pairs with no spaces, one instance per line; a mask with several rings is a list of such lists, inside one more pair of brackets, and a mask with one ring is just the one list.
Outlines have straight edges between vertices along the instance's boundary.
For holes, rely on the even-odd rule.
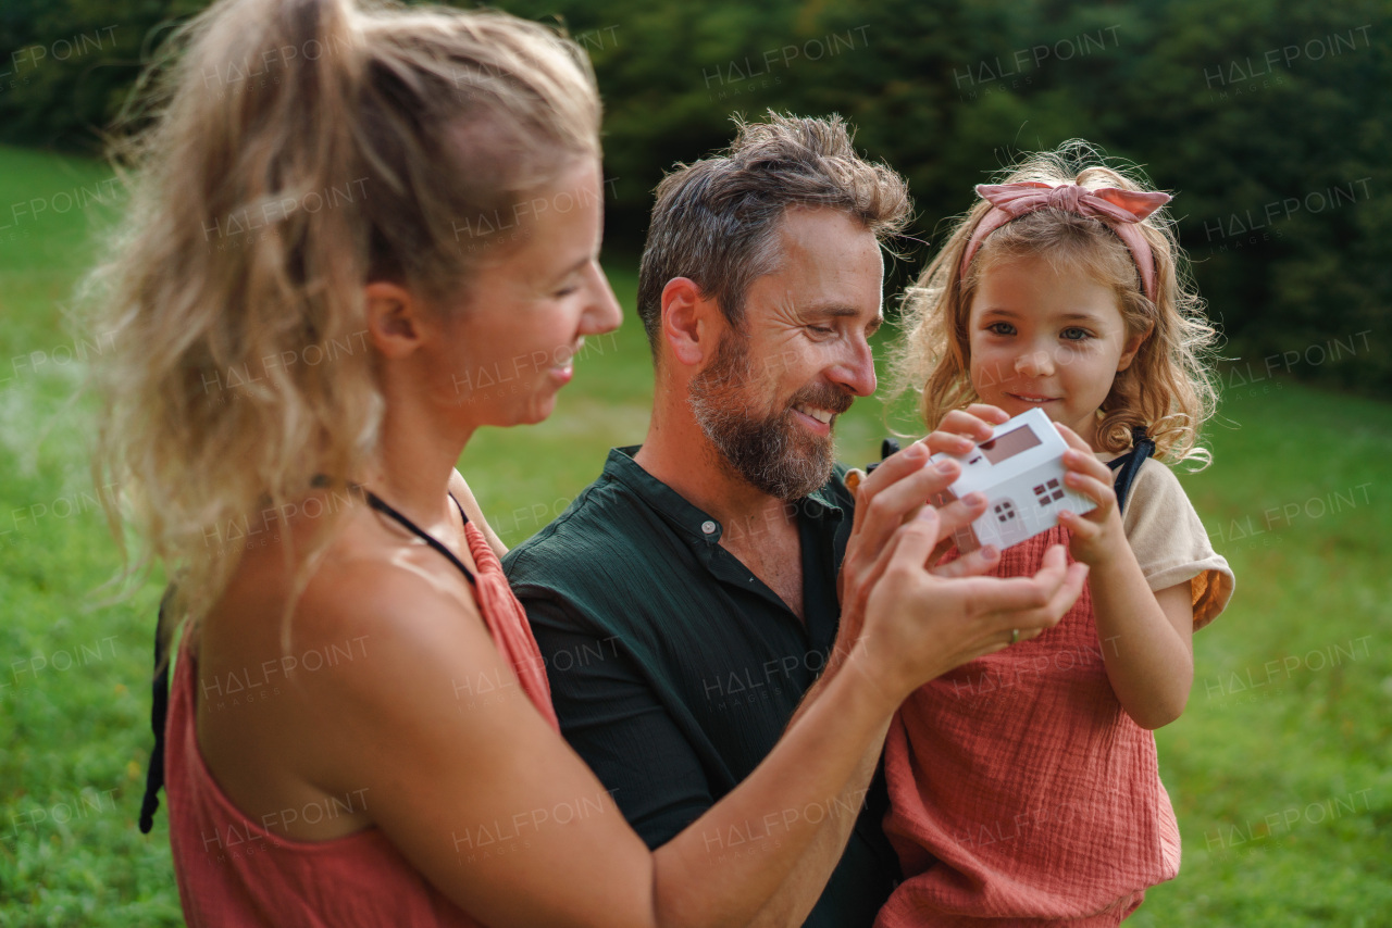
[[[122,519],[145,541],[128,576],[163,561],[196,622],[237,526],[344,487],[376,447],[365,284],[458,303],[526,195],[599,154],[600,103],[578,45],[501,13],[220,0],[168,49],[113,143],[129,207],[85,289],[114,345],[109,520],[122,551]],[[296,589],[320,511],[303,557],[287,545]]]

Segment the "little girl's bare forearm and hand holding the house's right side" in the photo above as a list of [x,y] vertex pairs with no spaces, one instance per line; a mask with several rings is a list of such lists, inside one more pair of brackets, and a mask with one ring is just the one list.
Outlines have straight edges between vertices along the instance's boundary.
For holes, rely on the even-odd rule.
[[1073,557],[1091,568],[1089,589],[1097,637],[1116,698],[1147,729],[1169,725],[1185,711],[1194,682],[1193,605],[1189,582],[1151,591],[1126,541],[1112,473],[1076,433],[1058,426],[1070,449],[1065,483],[1097,508],[1061,512]]

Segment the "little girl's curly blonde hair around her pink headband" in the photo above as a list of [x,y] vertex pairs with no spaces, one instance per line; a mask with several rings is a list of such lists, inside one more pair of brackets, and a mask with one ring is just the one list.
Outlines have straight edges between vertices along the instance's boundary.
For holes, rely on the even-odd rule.
[[[1002,173],[998,184],[1043,181],[1079,186],[1153,189],[1133,168],[1119,167],[1082,141],[1027,156]],[[1041,257],[1052,267],[1077,270],[1111,287],[1128,335],[1150,333],[1130,366],[1119,371],[1101,405],[1100,451],[1123,452],[1132,430],[1144,427],[1155,456],[1207,466],[1200,429],[1214,413],[1217,391],[1208,349],[1215,331],[1190,281],[1187,260],[1164,210],[1139,228],[1155,262],[1155,299],[1141,289],[1126,243],[1100,220],[1043,209],[1012,220],[986,237],[962,271],[962,255],[991,205],[979,200],[954,228],[947,245],[903,299],[903,342],[891,359],[891,398],[920,391],[919,412],[928,427],[954,409],[979,399],[970,377],[969,314],[984,267],[992,262]]]

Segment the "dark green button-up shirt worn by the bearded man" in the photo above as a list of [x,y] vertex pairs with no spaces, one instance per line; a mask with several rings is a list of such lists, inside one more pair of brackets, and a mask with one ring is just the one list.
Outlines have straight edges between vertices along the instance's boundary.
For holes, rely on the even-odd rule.
[[[600,479],[503,563],[546,658],[565,737],[657,847],[749,776],[825,665],[852,497],[837,467],[789,504],[805,625],[720,545],[714,519],[633,461],[636,451],[610,451]],[[874,921],[898,878],[880,829],[885,807],[877,776],[807,925]],[[754,856],[778,840],[778,817],[828,813],[774,811],[706,835],[706,847]]]

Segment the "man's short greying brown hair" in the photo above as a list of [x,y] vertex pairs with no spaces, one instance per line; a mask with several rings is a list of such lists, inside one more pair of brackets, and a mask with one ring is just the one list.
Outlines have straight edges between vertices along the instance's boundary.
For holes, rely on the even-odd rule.
[[770,111],[766,122],[736,124],[727,153],[681,164],[657,185],[638,278],[638,314],[654,359],[663,288],[674,277],[695,281],[732,327],[742,324],[750,284],[778,267],[780,221],[789,206],[839,210],[878,241],[909,221],[908,184],[856,154],[839,115]]

